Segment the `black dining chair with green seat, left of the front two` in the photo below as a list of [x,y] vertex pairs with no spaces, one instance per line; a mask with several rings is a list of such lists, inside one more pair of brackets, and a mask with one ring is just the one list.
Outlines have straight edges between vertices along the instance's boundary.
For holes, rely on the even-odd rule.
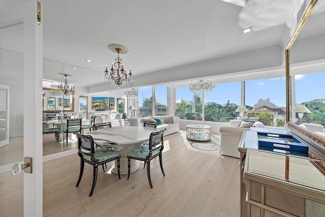
[[121,152],[114,151],[108,148],[95,149],[93,138],[91,135],[82,135],[77,133],[77,137],[78,137],[78,156],[80,157],[80,173],[79,173],[79,178],[76,187],[78,187],[80,184],[85,162],[92,165],[93,177],[92,177],[92,186],[89,194],[89,197],[91,197],[93,190],[95,189],[99,165],[102,165],[103,171],[105,172],[104,164],[117,160],[118,178],[121,179],[120,177]]

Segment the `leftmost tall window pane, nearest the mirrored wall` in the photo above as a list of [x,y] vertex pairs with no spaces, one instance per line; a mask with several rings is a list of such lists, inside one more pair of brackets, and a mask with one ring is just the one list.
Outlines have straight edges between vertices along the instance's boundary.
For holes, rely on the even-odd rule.
[[139,117],[152,116],[152,86],[138,88]]

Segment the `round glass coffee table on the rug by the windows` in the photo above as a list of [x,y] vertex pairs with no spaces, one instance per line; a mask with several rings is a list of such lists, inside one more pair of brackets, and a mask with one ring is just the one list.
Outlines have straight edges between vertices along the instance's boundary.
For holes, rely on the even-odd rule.
[[186,125],[186,138],[193,141],[209,141],[211,139],[211,126],[188,124]]

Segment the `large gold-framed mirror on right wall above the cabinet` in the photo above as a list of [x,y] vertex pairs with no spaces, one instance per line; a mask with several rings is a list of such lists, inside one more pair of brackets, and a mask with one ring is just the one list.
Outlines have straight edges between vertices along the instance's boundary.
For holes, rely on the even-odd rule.
[[[325,159],[325,132],[303,128],[296,124],[300,121],[298,104],[305,104],[311,113],[302,113],[302,122],[325,126],[325,5],[324,1],[311,1],[298,24],[293,37],[285,49],[286,62],[286,120],[291,132],[305,140],[311,140],[309,157]],[[308,19],[307,19],[308,18]],[[304,83],[301,80],[304,79]],[[318,106],[317,103],[319,103]],[[316,105],[316,106],[315,106]],[[324,107],[322,107],[324,106]],[[320,127],[321,128],[321,127]],[[325,172],[325,165],[320,166]]]

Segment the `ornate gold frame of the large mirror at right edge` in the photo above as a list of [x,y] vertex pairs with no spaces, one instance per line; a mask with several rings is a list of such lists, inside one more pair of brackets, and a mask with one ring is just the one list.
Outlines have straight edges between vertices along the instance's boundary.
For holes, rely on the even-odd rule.
[[[291,122],[291,84],[290,84],[290,61],[289,61],[289,51],[291,46],[294,44],[299,32],[301,31],[303,25],[305,24],[307,18],[309,17],[310,13],[312,12],[317,0],[311,0],[304,15],[302,16],[300,22],[297,25],[297,28],[291,37],[286,49],[285,49],[285,79],[286,79],[286,123],[287,128],[291,133],[294,135],[298,135],[303,139],[310,142],[309,146],[309,157],[317,160],[325,160],[325,137],[315,134],[310,130],[303,129],[298,125]],[[318,162],[314,164],[316,168],[325,175],[325,163]]]

